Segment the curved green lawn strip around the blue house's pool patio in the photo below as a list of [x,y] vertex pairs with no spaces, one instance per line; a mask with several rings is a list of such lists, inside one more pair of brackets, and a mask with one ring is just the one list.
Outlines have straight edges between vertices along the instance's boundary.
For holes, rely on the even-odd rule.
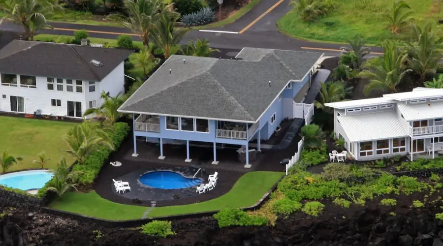
[[[284,173],[281,172],[250,172],[243,175],[228,193],[219,198],[184,206],[155,208],[149,213],[149,217],[221,210],[228,207],[249,207],[255,204],[283,175]],[[220,179],[222,180],[222,177]],[[138,219],[147,209],[147,207],[110,202],[98,196],[95,191],[67,193],[62,201],[56,200],[49,207],[109,220]]]

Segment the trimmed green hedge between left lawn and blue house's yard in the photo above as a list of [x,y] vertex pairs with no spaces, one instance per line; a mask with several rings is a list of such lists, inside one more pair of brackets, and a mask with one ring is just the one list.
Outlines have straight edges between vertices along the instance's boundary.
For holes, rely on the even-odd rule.
[[[126,138],[130,127],[127,123],[118,122],[114,124],[114,133],[109,134],[109,137],[112,139],[112,143],[116,150],[120,148],[123,140]],[[78,175],[78,183],[79,184],[92,184],[94,182],[95,177],[100,172],[101,167],[104,164],[104,161],[109,157],[111,151],[105,149],[104,147],[98,148],[96,152],[90,154],[85,163],[74,165],[72,170],[81,172]],[[37,196],[43,197],[46,195],[46,189],[49,186],[52,186],[53,180],[48,181],[41,189],[38,190]]]

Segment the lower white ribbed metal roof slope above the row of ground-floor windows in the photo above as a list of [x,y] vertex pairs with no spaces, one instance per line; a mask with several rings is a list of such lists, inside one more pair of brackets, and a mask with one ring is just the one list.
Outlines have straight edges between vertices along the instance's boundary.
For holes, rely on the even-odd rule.
[[338,116],[350,142],[364,142],[406,137],[408,132],[400,123],[395,111],[353,116]]

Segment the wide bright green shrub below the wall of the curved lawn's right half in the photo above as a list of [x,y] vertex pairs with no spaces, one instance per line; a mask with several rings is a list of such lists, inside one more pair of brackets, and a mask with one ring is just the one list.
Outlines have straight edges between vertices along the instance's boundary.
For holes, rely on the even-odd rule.
[[246,212],[236,209],[223,209],[214,215],[220,227],[231,225],[251,226],[251,225],[267,225],[269,221],[261,216],[248,215]]

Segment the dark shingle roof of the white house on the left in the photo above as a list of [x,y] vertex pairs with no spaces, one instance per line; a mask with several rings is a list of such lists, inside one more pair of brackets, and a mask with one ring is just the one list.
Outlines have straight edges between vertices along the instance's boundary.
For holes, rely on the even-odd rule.
[[[0,50],[0,73],[101,81],[133,51],[13,40]],[[95,66],[91,60],[99,61]]]

